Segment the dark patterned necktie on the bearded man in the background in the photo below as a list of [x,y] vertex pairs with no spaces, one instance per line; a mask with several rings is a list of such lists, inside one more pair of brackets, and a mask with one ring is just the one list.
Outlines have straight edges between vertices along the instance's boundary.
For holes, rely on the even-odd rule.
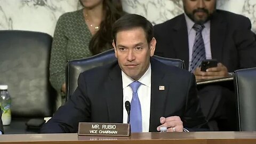
[[193,45],[191,64],[189,67],[189,71],[192,73],[197,67],[201,65],[201,62],[205,60],[204,39],[202,36],[202,30],[204,29],[204,25],[195,24],[193,26],[193,29],[196,30],[196,37]]

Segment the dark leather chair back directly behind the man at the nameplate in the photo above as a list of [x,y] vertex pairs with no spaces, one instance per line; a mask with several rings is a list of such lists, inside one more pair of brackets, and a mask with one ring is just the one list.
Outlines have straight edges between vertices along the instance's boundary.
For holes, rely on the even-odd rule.
[[[184,68],[184,62],[180,59],[170,59],[153,56],[154,59],[162,61],[166,65],[177,66],[179,68]],[[85,70],[106,65],[107,63],[116,60],[114,49],[102,52],[100,54],[94,55],[89,58],[70,60],[67,62],[66,66],[66,93],[67,100],[71,97],[77,87],[77,79],[80,73]]]

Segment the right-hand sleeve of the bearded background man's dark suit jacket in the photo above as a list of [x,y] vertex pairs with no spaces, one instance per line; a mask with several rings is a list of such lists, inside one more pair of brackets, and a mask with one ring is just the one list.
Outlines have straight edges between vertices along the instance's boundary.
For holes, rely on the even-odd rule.
[[239,54],[239,68],[256,67],[256,41],[251,31],[251,21],[241,18],[234,33],[234,40]]

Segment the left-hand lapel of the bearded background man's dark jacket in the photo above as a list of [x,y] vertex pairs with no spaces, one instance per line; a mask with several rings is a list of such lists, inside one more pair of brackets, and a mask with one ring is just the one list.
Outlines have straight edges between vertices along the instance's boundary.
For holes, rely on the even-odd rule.
[[185,15],[182,14],[179,21],[173,27],[174,36],[172,42],[175,47],[176,58],[185,62],[185,67],[189,65],[189,46],[188,46],[188,30]]

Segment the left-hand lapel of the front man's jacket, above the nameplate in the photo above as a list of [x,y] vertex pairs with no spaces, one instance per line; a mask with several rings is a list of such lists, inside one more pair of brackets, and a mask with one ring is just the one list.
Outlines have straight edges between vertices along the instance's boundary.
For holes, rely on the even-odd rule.
[[107,109],[110,123],[123,123],[123,85],[121,69],[116,62],[105,83]]

